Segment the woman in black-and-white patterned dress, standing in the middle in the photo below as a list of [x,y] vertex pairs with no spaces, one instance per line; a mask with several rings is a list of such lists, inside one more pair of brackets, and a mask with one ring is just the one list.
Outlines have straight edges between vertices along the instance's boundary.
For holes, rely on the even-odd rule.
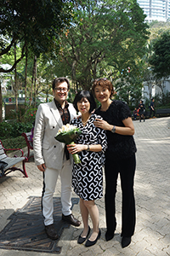
[[[99,115],[92,113],[96,108],[94,96],[82,90],[74,99],[74,107],[81,117],[73,119],[71,125],[76,125],[82,131],[74,145],[68,145],[71,154],[78,153],[81,163],[73,165],[72,186],[75,193],[80,197],[80,209],[84,229],[77,242],[86,241],[85,246],[93,246],[99,239],[99,210],[94,200],[103,196],[103,172],[102,166],[105,161],[105,149],[107,147],[105,131],[94,126]],[[88,238],[90,227],[88,215],[92,219],[93,232]]]

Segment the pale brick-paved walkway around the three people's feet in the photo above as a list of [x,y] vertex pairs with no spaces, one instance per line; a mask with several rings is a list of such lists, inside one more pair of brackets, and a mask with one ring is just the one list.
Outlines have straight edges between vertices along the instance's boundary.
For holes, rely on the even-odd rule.
[[[104,198],[97,201],[102,236],[94,247],[77,244],[79,228],[65,229],[59,246],[60,256],[65,255],[116,255],[116,256],[167,256],[170,255],[170,118],[134,121],[135,141],[138,148],[137,170],[135,176],[135,199],[137,224],[129,247],[121,247],[121,189],[118,182],[116,195],[116,236],[105,241]],[[23,207],[28,197],[41,196],[42,173],[33,162],[26,164],[28,178],[14,172],[0,179],[0,230],[8,224],[8,216]],[[55,196],[59,196],[58,183]],[[76,196],[73,193],[73,196]],[[79,207],[73,208],[74,215],[81,219]],[[1,256],[52,256],[54,253],[33,253],[0,249]]]

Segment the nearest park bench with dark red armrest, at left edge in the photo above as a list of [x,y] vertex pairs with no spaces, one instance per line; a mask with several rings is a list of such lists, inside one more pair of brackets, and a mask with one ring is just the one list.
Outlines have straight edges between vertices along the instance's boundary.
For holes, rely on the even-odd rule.
[[[16,155],[16,151],[20,150],[21,152],[21,156],[17,156]],[[6,154],[7,151],[15,151],[15,155],[13,157],[10,157]],[[3,169],[4,172],[1,172],[1,176],[6,176],[8,173],[10,172],[14,172],[14,171],[20,171],[24,174],[24,177],[28,177],[27,173],[26,173],[26,166],[25,163],[27,161],[27,158],[24,156],[24,152],[22,151],[22,149],[20,148],[10,148],[10,149],[6,149],[3,147],[3,143],[0,140],[0,161],[3,161],[5,163],[7,163],[8,165],[5,166],[5,168]],[[15,166],[16,164],[20,163],[22,161],[22,167],[23,169],[20,169],[19,167]]]

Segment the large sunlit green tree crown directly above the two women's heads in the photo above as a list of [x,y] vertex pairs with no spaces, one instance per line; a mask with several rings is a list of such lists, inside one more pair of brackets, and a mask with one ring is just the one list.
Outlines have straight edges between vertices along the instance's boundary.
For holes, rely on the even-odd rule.
[[58,74],[69,74],[80,89],[89,90],[108,67],[112,77],[144,54],[148,26],[136,1],[76,1],[74,8],[72,26],[60,37]]

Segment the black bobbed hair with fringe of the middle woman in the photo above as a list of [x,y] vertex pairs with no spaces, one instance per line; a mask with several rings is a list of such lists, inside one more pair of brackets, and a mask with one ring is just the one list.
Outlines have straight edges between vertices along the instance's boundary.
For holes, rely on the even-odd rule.
[[91,92],[89,92],[88,90],[81,90],[77,93],[77,95],[75,96],[75,99],[73,101],[74,108],[78,112],[77,102],[80,102],[83,98],[86,98],[88,100],[88,102],[90,102],[89,113],[91,113],[96,108],[96,102],[94,100],[93,94]]

